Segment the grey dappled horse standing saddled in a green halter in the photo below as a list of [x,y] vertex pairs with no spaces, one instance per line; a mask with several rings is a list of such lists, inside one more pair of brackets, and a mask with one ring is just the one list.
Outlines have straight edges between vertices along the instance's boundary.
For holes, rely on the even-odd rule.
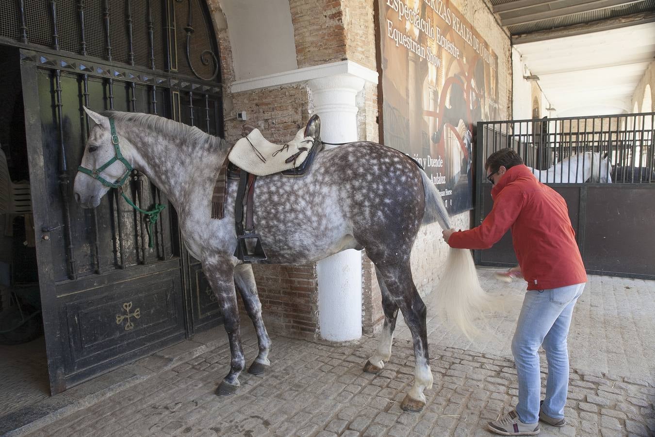
[[[229,180],[227,185],[225,217],[210,216],[212,191],[228,145],[198,128],[155,115],[113,111],[100,115],[84,109],[96,126],[86,142],[81,166],[94,172],[77,174],[75,198],[84,208],[94,208],[109,190],[98,178],[119,181],[114,185],[124,180],[124,162],[106,165],[117,155],[112,139],[119,143],[123,159],[166,193],[178,211],[186,247],[202,262],[223,313],[232,359],[217,394],[233,393],[245,366],[235,287],[259,341],[259,354],[250,373],[262,373],[271,364],[271,340],[261,318],[252,266],[233,256],[236,181]],[[115,137],[107,117],[113,119]],[[258,178],[254,204],[254,222],[268,256],[265,263],[301,265],[348,248],[366,250],[375,263],[382,290],[384,328],[377,352],[364,370],[380,371],[384,360],[390,358],[400,309],[411,330],[416,358],[414,385],[402,408],[420,410],[425,405],[423,390],[432,386],[432,372],[426,306],[412,280],[409,257],[422,223],[438,221],[443,229],[451,227],[428,176],[399,151],[377,143],[354,142],[318,154],[301,178],[280,174]],[[451,251],[451,267],[444,273],[452,277],[451,286],[441,301],[452,307],[454,322],[466,328],[468,309],[480,300],[481,294],[474,293],[481,289],[470,252]],[[453,303],[447,300],[448,294],[453,295]]]

